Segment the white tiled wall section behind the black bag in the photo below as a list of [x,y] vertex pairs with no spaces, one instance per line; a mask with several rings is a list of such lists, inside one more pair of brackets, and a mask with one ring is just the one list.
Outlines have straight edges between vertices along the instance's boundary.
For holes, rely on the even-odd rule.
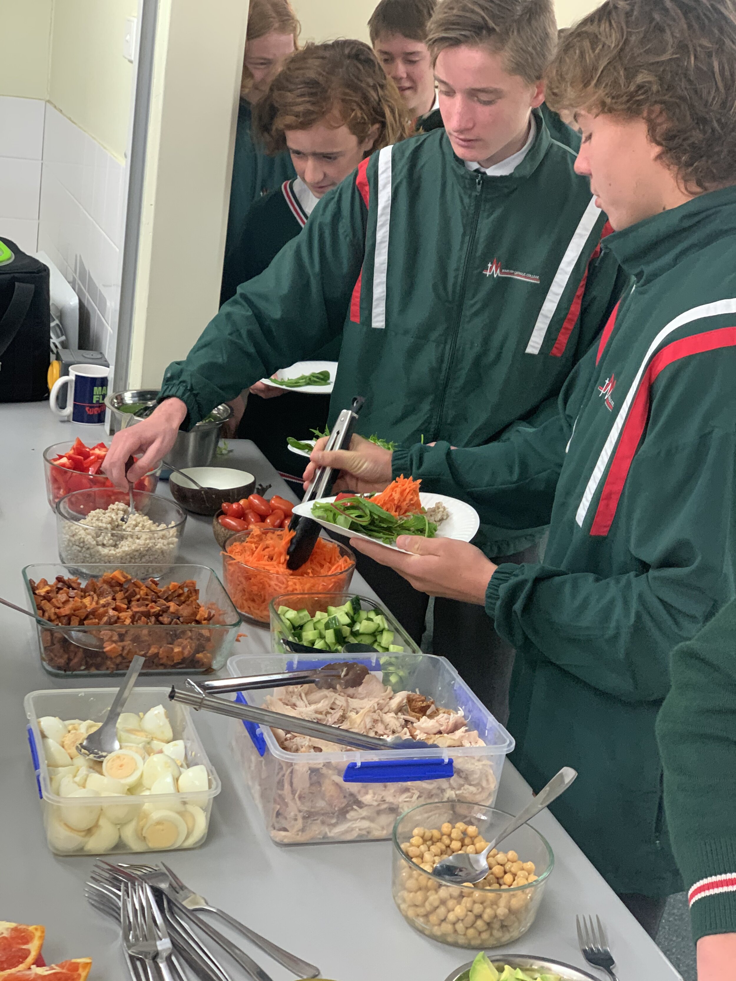
[[79,347],[112,364],[126,169],[52,105],[0,97],[0,234],[47,253],[79,296]]

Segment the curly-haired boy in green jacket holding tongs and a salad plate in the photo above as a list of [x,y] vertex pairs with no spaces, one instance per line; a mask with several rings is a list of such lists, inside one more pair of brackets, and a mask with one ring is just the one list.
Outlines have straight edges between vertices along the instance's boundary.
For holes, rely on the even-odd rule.
[[537,788],[580,772],[552,810],[653,935],[682,888],[655,738],[670,652],[736,577],[734,50],[731,0],[607,0],[563,38],[548,92],[575,111],[576,169],[634,284],[556,413],[474,449],[312,456],[356,490],[411,475],[497,526],[550,522],[542,564],[447,539],[355,546],[418,590],[485,606],[517,652],[516,765]]

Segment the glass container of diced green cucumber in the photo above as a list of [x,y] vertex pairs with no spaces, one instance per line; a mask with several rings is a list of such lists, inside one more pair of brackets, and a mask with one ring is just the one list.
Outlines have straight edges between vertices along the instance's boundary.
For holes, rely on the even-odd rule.
[[284,640],[342,653],[346,644],[368,644],[379,653],[418,653],[389,611],[367,596],[350,593],[289,593],[270,603],[271,649],[288,652]]

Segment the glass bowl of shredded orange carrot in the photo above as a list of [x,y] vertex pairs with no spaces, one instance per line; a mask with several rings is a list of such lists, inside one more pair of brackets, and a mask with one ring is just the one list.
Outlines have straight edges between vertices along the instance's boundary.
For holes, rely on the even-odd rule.
[[268,604],[284,593],[344,593],[355,571],[355,555],[346,546],[320,538],[300,569],[287,568],[293,532],[255,526],[228,540],[223,580],[241,616],[270,622]]

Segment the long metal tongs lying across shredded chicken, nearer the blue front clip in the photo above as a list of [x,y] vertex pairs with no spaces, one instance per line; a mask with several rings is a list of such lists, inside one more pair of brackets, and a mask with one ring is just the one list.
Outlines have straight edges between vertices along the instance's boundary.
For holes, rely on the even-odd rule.
[[311,739],[320,739],[327,743],[339,743],[352,749],[437,749],[438,754],[443,752],[442,747],[430,746],[422,740],[401,739],[399,736],[392,736],[391,739],[363,736],[362,733],[353,733],[349,729],[339,729],[337,726],[326,726],[322,722],[298,719],[284,712],[274,712],[270,708],[258,708],[256,705],[243,705],[238,701],[228,701],[227,698],[197,694],[193,690],[184,692],[172,688],[169,698],[172,701],[181,701],[184,705],[191,705],[196,711],[203,708],[217,715],[229,715],[233,719],[255,722],[256,725],[269,726],[273,729],[284,729],[289,733],[298,733],[299,736],[309,736]]

